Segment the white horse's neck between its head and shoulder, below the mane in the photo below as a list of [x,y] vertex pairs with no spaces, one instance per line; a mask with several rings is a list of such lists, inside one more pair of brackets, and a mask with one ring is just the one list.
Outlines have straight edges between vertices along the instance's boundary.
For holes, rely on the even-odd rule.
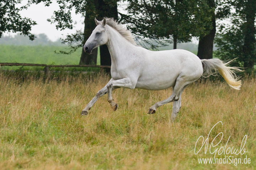
[[119,60],[124,61],[127,54],[129,53],[129,49],[133,48],[128,40],[126,40],[121,34],[119,34],[115,29],[108,26],[108,41],[107,46],[111,55],[111,61],[118,62]]

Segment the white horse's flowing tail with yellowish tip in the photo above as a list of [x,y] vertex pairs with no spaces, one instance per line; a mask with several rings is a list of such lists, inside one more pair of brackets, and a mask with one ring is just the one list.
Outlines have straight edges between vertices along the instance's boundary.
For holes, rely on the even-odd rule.
[[239,77],[236,77],[235,71],[242,71],[238,67],[227,67],[230,62],[222,62],[218,58],[213,59],[203,59],[201,60],[203,64],[203,77],[209,77],[210,75],[217,75],[217,70],[222,75],[222,77],[226,80],[228,85],[235,89],[240,90],[241,87],[241,80],[239,80]]

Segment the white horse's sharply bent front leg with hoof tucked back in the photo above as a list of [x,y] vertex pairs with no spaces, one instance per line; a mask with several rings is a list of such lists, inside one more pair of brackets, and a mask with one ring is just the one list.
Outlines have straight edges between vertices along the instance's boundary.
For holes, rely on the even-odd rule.
[[117,89],[120,87],[125,87],[128,89],[134,89],[136,86],[136,83],[133,82],[130,78],[123,78],[119,80],[113,80],[109,84],[107,84],[107,91],[108,91],[108,102],[110,103],[110,106],[114,111],[117,110],[117,103],[114,102],[112,98],[112,89]]

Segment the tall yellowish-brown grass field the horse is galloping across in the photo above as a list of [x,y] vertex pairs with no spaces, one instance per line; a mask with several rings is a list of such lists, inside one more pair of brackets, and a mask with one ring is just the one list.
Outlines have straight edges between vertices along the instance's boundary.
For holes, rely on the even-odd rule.
[[[174,123],[169,123],[172,104],[146,114],[155,102],[169,97],[171,89],[117,89],[113,91],[116,112],[105,95],[89,115],[81,117],[81,110],[109,79],[100,74],[66,74],[51,75],[46,81],[40,72],[0,73],[0,169],[255,169],[255,78],[244,79],[240,91],[218,80],[193,83],[182,94]],[[207,153],[203,148],[195,155],[199,136],[206,139],[218,121],[223,125],[216,125],[209,135]],[[228,156],[250,158],[250,164],[198,163],[198,158],[214,157],[210,142],[220,132],[223,139],[212,151],[225,147],[227,141],[227,148],[240,151],[247,135],[246,153]],[[224,156],[217,153],[215,158]]]

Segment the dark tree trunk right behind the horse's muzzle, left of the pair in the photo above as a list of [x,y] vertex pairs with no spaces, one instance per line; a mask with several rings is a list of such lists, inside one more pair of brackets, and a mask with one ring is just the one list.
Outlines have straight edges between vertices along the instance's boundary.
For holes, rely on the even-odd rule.
[[[89,3],[89,1],[88,1]],[[90,1],[91,5],[94,6],[93,1]],[[90,37],[92,31],[95,29],[96,24],[94,21],[94,10],[87,10],[86,15],[85,15],[85,20],[84,20],[84,42],[83,42],[83,47],[85,45],[86,40]],[[88,54],[84,51],[84,48],[82,48],[82,54],[80,58],[79,64],[96,64],[97,63],[97,53],[98,50],[97,48],[92,50],[91,54]]]

